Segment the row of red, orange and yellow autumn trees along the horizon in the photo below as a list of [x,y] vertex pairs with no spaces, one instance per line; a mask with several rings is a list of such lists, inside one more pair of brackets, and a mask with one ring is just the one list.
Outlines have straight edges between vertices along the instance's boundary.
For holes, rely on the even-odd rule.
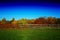
[[0,28],[19,28],[19,24],[59,24],[60,25],[60,18],[55,17],[39,17],[36,19],[19,19],[15,20],[15,18],[12,18],[12,20],[6,20],[6,18],[3,18],[0,20]]

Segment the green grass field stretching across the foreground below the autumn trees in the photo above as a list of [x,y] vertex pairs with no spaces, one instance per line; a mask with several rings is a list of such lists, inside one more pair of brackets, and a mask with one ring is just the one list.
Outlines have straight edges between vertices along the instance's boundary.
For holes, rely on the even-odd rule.
[[60,40],[60,29],[0,29],[0,40]]

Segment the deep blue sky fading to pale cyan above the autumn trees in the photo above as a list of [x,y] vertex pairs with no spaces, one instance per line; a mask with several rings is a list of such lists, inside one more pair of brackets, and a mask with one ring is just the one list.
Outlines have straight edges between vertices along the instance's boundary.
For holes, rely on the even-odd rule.
[[60,2],[48,0],[2,0],[0,1],[0,19],[16,20],[38,17],[60,18]]

